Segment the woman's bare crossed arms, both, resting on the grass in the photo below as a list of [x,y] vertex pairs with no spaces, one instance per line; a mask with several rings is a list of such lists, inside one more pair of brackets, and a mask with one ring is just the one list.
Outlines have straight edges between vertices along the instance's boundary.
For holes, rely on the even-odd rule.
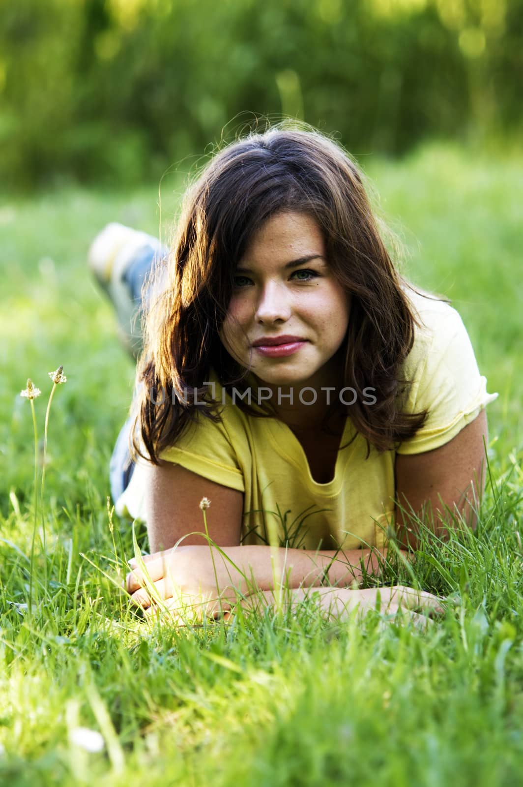
[[[483,410],[440,449],[416,456],[396,455],[396,538],[400,546],[416,549],[417,516],[440,538],[446,538],[453,527],[452,513],[458,512],[470,527],[475,527],[475,507],[484,490],[486,441],[487,419]],[[363,569],[379,575],[386,549],[381,553],[368,549],[317,552],[240,546],[241,492],[169,463],[149,466],[148,474],[147,521],[154,554],[146,559],[146,564],[158,597],[170,599],[176,593],[186,593],[194,597],[220,597],[230,604],[237,590],[244,596],[252,594],[254,589],[267,595],[274,589],[275,581],[279,581],[296,589],[297,598],[300,593],[303,595],[304,588],[325,584],[326,571],[329,584],[339,589],[335,595],[344,604],[345,600],[363,604],[369,596],[366,591],[355,590],[355,586],[361,581]],[[209,549],[206,538],[198,535],[187,535],[182,545],[171,549],[179,538],[203,529],[198,509],[202,497],[212,499],[209,536],[222,553]],[[127,589],[137,604],[149,608],[150,587],[148,590],[144,584],[140,567],[135,567],[127,578]],[[328,590],[322,588],[322,597]],[[385,590],[389,593],[391,589]],[[408,589],[402,589],[401,593],[403,590]],[[418,593],[417,598],[433,604],[433,597],[422,599]],[[391,603],[395,603],[393,598]]]

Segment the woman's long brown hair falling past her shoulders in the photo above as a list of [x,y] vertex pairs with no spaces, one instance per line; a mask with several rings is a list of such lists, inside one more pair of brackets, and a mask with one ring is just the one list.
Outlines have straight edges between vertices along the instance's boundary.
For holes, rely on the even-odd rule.
[[[219,419],[215,403],[195,405],[187,390],[203,395],[212,371],[226,390],[245,380],[246,370],[224,349],[219,330],[249,240],[270,216],[285,211],[314,218],[330,267],[352,296],[341,353],[344,385],[358,396],[342,409],[369,450],[392,449],[422,426],[426,412],[402,412],[409,381],[400,372],[416,323],[408,285],[381,238],[363,178],[344,150],[319,132],[276,127],[212,158],[186,193],[171,253],[157,270],[161,284],[145,315],[133,430],[134,451],[144,456],[145,446],[155,464],[197,413]],[[363,404],[366,387],[378,392],[373,406]],[[237,406],[271,415],[241,401]],[[340,407],[333,405],[330,414]]]

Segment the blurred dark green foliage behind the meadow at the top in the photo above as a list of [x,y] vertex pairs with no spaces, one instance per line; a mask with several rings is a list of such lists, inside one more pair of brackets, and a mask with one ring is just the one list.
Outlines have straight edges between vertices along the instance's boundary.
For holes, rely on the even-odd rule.
[[523,0],[0,2],[0,178],[156,178],[258,116],[357,154],[517,132]]

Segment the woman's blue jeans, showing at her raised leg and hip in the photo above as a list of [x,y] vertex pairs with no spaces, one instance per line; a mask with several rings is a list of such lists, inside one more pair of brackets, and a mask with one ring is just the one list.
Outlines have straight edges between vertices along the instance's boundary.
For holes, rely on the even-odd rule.
[[[160,246],[156,238],[151,236],[150,243],[141,246],[136,250],[134,256],[129,260],[127,267],[122,275],[122,281],[129,290],[129,297],[134,302],[136,312],[142,308],[142,286],[145,275],[149,273],[157,260],[161,260],[168,254],[168,249]],[[145,299],[147,293],[143,294]],[[112,451],[111,462],[109,465],[109,481],[111,484],[112,500],[116,503],[120,495],[127,489],[131,476],[134,471],[134,462],[129,453],[129,437],[131,434],[132,419],[127,418],[120,434],[116,438],[116,444]]]

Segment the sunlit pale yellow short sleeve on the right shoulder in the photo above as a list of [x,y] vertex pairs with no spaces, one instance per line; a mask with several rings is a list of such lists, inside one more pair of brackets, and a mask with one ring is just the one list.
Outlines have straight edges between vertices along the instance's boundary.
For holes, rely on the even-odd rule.
[[497,393],[487,393],[487,380],[477,368],[458,312],[439,302],[426,317],[426,330],[414,339],[405,366],[405,375],[412,381],[405,410],[426,410],[428,416],[414,437],[397,449],[400,454],[440,448],[498,397]]

